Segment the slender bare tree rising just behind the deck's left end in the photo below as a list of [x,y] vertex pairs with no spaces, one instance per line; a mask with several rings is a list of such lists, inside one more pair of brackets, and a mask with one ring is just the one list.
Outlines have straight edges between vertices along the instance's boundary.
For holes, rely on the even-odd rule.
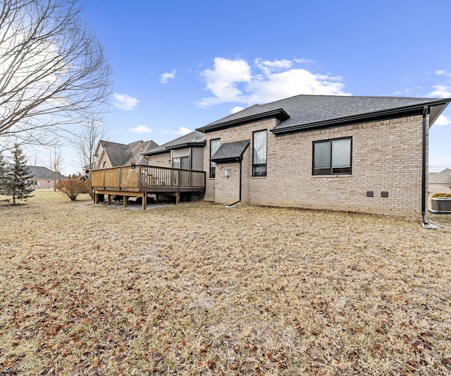
[[106,130],[100,120],[92,118],[89,123],[82,126],[81,131],[73,139],[73,147],[78,152],[82,168],[89,166],[89,174],[94,166],[95,152],[100,140],[105,140]]

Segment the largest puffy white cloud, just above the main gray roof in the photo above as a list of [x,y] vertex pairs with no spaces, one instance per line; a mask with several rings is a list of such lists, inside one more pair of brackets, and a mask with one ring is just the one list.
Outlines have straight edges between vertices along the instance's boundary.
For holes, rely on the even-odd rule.
[[197,105],[210,107],[238,102],[249,106],[299,94],[350,95],[344,92],[340,76],[315,74],[295,67],[305,62],[305,59],[255,59],[252,67],[243,59],[216,57],[214,68],[201,73],[206,89],[214,96],[202,98]]

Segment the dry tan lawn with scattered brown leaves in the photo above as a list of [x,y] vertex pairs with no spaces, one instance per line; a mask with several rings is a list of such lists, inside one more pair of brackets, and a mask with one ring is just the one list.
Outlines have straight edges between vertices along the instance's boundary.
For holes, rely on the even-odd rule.
[[1,375],[449,375],[451,216],[0,203]]

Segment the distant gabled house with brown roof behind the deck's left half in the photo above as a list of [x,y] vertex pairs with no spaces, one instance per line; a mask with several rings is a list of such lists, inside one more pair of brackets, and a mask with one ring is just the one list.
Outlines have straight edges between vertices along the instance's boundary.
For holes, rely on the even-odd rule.
[[100,140],[96,149],[96,163],[93,169],[125,166],[127,164],[147,164],[142,156],[158,144],[154,141],[135,141],[130,144],[120,144]]

